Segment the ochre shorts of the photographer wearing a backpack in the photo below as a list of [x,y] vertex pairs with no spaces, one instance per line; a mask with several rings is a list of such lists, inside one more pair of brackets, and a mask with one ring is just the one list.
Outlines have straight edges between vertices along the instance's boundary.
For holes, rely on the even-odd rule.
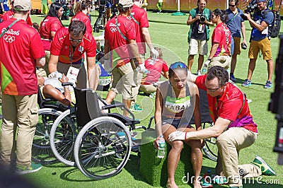
[[250,49],[248,50],[248,58],[258,59],[258,52],[262,53],[263,59],[272,59],[270,40],[268,37],[258,41],[251,40]]

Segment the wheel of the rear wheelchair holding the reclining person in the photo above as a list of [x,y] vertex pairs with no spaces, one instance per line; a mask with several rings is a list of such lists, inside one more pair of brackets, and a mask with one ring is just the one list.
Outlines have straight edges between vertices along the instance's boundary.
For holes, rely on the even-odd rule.
[[38,110],[39,117],[32,147],[32,160],[35,163],[52,164],[58,161],[50,147],[50,129],[61,113],[52,108]]

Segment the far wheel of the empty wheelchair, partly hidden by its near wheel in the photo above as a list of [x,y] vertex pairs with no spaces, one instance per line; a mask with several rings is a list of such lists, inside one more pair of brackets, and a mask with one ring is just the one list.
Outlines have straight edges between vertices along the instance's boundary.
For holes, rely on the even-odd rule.
[[50,131],[50,146],[56,158],[65,165],[74,166],[76,127],[71,111],[66,110],[54,122]]

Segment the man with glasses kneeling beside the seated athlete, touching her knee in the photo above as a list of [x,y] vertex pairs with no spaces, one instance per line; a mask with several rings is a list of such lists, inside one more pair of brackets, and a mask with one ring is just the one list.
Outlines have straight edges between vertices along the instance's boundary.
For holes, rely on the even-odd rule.
[[189,76],[198,88],[207,90],[210,117],[214,126],[200,131],[169,135],[169,141],[199,140],[216,137],[219,151],[216,174],[224,175],[229,187],[242,187],[242,177],[275,175],[275,171],[256,156],[253,164],[238,165],[241,149],[251,146],[258,137],[246,95],[229,83],[229,74],[221,66],[212,66],[204,76]]

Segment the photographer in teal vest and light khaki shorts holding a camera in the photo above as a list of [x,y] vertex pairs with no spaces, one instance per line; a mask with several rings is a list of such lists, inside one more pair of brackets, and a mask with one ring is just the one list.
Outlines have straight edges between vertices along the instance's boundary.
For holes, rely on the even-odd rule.
[[192,8],[192,10],[190,10],[190,16],[187,18],[187,25],[190,25],[190,31],[187,36],[187,42],[189,42],[187,68],[191,71],[194,57],[198,52],[197,75],[200,75],[204,55],[208,53],[207,41],[209,40],[209,25],[214,25],[214,23],[212,23],[212,11],[205,8],[206,5],[207,0],[197,0],[197,8]]

